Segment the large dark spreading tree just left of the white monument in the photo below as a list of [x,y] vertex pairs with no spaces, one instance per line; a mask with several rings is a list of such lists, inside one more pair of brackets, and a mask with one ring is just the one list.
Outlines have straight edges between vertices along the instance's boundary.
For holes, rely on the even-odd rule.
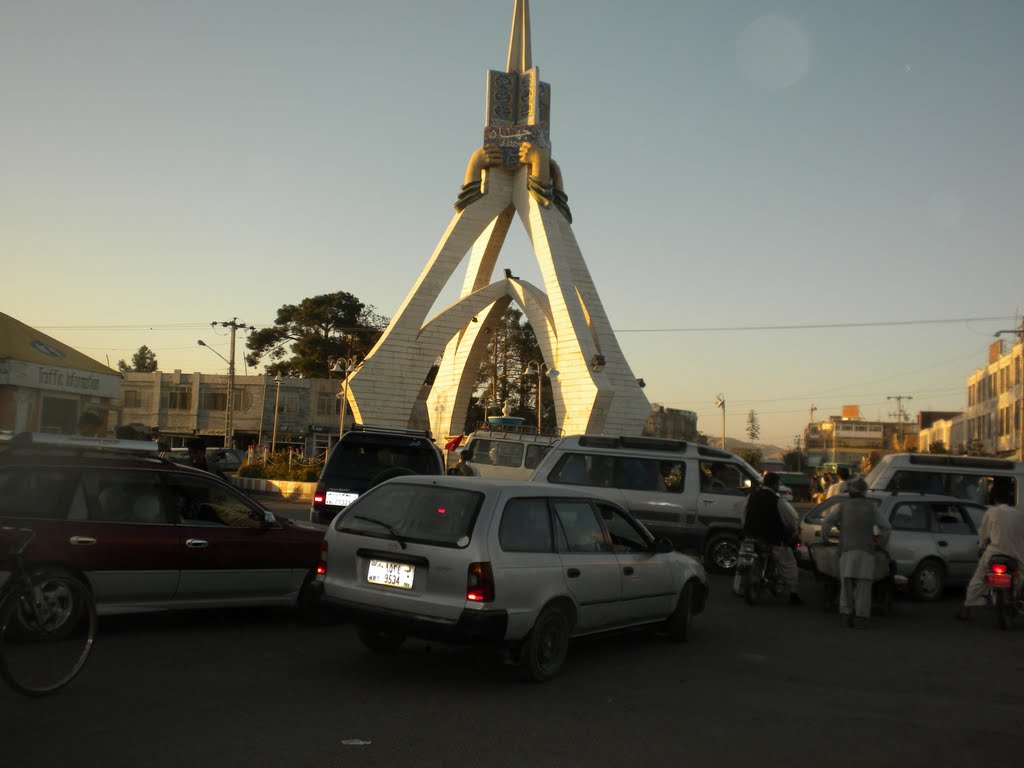
[[255,368],[263,357],[268,375],[332,378],[339,357],[364,357],[388,318],[345,291],[313,296],[299,304],[285,304],[270,328],[250,335],[246,362]]

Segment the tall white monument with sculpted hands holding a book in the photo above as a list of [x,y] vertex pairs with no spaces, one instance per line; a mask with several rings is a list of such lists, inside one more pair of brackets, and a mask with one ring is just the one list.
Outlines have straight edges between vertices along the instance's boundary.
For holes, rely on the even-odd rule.
[[[565,434],[640,434],[650,404],[630,370],[572,232],[561,171],[551,158],[551,88],[530,52],[529,4],[515,0],[508,63],[487,73],[482,146],[472,153],[456,213],[404,302],[349,377],[356,422],[409,426],[424,380],[434,435],[461,434],[487,335],[515,302],[551,367],[554,410]],[[543,289],[495,267],[518,216]],[[459,298],[430,315],[466,262]]]

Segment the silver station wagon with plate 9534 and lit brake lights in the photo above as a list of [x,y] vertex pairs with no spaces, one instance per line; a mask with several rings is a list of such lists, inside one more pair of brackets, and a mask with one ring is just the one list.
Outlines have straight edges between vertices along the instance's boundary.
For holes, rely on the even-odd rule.
[[362,642],[502,647],[525,676],[562,668],[572,637],[659,626],[685,640],[703,566],[622,507],[573,488],[401,477],[360,496],[322,545],[317,582]]

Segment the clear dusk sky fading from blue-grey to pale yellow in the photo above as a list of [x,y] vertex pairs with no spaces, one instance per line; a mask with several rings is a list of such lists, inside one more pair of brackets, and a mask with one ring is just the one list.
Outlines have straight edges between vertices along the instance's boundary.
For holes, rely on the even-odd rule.
[[[204,373],[229,353],[211,323],[335,291],[392,315],[454,214],[512,10],[6,0],[2,311],[113,368],[144,344]],[[730,437],[754,411],[780,446],[845,404],[966,407],[1024,309],[1024,3],[530,15],[573,231],[651,401],[715,436],[721,394]],[[541,284],[517,222],[499,266]]]

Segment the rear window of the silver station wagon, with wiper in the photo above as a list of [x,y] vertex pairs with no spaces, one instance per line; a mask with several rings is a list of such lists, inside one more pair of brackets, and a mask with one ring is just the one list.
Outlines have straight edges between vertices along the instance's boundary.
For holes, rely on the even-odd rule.
[[483,494],[465,488],[391,481],[360,496],[335,530],[381,539],[467,547]]

